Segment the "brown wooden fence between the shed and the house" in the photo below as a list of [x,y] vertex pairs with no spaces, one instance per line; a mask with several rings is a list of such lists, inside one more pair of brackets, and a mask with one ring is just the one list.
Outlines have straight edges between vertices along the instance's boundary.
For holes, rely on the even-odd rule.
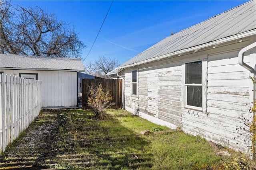
[[112,100],[115,105],[112,108],[122,108],[122,79],[83,79],[82,80],[82,109],[90,109],[88,106],[89,87],[96,87],[98,84],[106,92],[110,90]]

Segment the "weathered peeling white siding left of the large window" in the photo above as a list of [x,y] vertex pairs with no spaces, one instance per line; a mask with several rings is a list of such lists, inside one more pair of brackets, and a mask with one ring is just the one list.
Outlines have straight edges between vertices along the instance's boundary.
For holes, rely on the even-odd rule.
[[[131,95],[132,70],[138,70],[138,96]],[[169,59],[157,62],[155,66],[145,64],[126,70],[124,75],[125,107],[128,111],[139,111],[140,116],[158,124],[162,120],[168,127],[182,126],[181,61]]]

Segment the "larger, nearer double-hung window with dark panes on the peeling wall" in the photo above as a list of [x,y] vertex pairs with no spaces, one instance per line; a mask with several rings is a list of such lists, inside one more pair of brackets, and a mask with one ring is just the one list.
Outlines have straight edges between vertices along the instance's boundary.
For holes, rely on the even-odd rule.
[[202,61],[186,63],[185,106],[202,109]]

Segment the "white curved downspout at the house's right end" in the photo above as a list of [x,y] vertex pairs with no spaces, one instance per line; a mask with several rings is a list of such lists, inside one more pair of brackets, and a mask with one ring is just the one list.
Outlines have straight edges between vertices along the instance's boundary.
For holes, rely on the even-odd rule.
[[[244,47],[238,53],[238,63],[253,74],[253,80],[255,80],[255,70],[248,64],[244,63],[244,53],[254,47],[256,47],[256,42],[252,43],[251,45],[248,45],[247,47]],[[255,107],[255,90],[256,90],[256,88],[255,88],[255,82],[254,82],[253,89],[252,89],[252,91],[253,91],[253,95],[252,95],[253,96],[253,107]],[[252,117],[253,120],[254,120],[254,117],[255,117],[255,111],[253,111],[253,117]],[[254,150],[254,153],[255,153],[255,150]],[[254,159],[254,157],[255,157],[255,154],[252,154],[252,159]]]

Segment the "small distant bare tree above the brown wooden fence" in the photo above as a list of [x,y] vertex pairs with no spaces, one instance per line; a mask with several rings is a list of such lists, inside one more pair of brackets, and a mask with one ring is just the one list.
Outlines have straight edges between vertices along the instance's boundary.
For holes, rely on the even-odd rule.
[[114,70],[119,62],[117,59],[110,59],[105,56],[100,56],[96,61],[94,61],[95,68],[100,72],[107,74],[108,72]]

